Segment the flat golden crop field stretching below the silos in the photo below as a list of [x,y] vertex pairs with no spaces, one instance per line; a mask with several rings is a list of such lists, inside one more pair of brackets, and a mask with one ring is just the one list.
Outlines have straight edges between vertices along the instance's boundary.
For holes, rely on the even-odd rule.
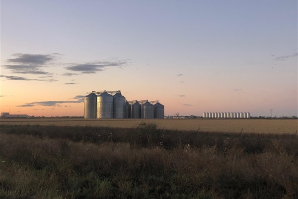
[[229,133],[287,133],[295,134],[297,119],[1,119],[0,124],[56,125],[56,126],[104,126],[109,128],[133,128],[142,121],[154,122],[158,128],[182,131],[207,131]]

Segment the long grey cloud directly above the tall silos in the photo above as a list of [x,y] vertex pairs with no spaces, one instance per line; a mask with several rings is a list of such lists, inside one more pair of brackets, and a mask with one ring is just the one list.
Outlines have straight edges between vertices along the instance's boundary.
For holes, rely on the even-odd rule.
[[85,63],[85,64],[77,64],[77,65],[68,66],[65,68],[70,71],[81,72],[82,74],[94,74],[99,71],[104,71],[108,67],[114,67],[114,66],[121,67],[121,66],[125,66],[126,64],[127,62],[125,61],[116,61],[116,62],[99,61],[99,62],[91,62],[91,63]]

